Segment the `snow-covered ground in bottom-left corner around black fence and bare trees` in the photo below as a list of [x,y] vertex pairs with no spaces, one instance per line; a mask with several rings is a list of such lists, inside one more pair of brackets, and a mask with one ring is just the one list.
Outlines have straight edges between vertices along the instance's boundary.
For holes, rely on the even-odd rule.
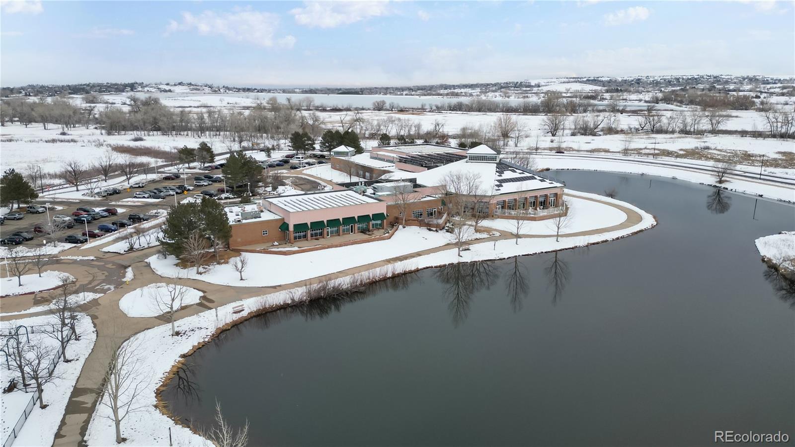
[[[48,325],[52,322],[52,317],[31,317],[14,321],[3,321],[2,328],[10,328],[16,325]],[[72,340],[67,348],[67,357],[72,360],[69,363],[60,362],[56,366],[55,374],[58,376],[52,383],[44,386],[43,398],[47,408],[41,410],[38,405],[33,407],[25,425],[14,441],[14,445],[52,445],[55,434],[60,426],[60,420],[64,417],[66,404],[72,389],[75,387],[80,370],[83,369],[86,357],[94,348],[96,332],[91,318],[85,314],[80,314],[80,319],[76,325],[80,333],[80,340]],[[33,332],[30,335],[32,343],[42,343],[48,346],[56,346],[57,341],[45,336],[41,332]],[[0,363],[0,376],[7,378],[9,371],[5,369],[6,363]],[[22,414],[25,405],[31,398],[30,393],[14,391],[9,394],[0,395],[0,406],[2,406],[2,439],[11,431],[14,424]]]

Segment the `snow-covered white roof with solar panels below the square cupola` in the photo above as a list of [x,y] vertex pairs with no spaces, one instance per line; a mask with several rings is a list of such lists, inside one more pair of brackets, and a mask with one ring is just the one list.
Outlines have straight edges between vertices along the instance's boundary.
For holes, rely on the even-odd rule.
[[[425,186],[444,184],[444,177],[452,173],[471,173],[480,179],[483,193],[489,195],[506,192],[532,191],[534,189],[556,188],[563,185],[522,169],[519,165],[510,165],[504,161],[496,163],[475,163],[467,160],[456,161],[449,165],[416,173],[417,183]],[[448,185],[449,186],[449,185]],[[456,192],[456,191],[452,191]]]

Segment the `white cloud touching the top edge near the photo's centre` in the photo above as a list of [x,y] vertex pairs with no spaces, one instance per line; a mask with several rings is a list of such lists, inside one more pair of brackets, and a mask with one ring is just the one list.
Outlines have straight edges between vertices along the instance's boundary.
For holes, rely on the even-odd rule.
[[337,2],[304,2],[304,7],[290,10],[299,25],[318,28],[335,28],[349,25],[370,17],[390,14],[389,0],[359,2],[339,0]]

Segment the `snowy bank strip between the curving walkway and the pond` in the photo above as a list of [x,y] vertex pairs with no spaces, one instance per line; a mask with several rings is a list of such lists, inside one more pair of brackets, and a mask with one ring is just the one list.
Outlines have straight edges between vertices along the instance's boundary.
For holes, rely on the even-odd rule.
[[[580,194],[585,195],[584,193]],[[448,250],[438,251],[430,255],[422,255],[416,258],[394,262],[387,266],[378,267],[360,274],[329,281],[323,281],[322,278],[320,278],[320,281],[316,281],[312,285],[307,284],[289,290],[280,290],[261,297],[252,297],[242,301],[235,301],[220,306],[218,309],[207,310],[206,312],[177,321],[176,330],[180,332],[180,336],[171,336],[170,326],[161,325],[130,337],[130,340],[127,340],[125,344],[139,347],[137,354],[141,360],[135,367],[135,373],[142,377],[156,377],[157,379],[142,383],[142,386],[146,387],[145,392],[138,395],[134,402],[134,406],[140,406],[141,411],[130,414],[125,422],[122,423],[122,436],[127,438],[125,444],[169,445],[170,427],[174,445],[209,445],[204,438],[193,433],[192,430],[187,427],[180,426],[169,418],[169,416],[161,412],[161,410],[157,410],[158,405],[162,407],[162,402],[158,402],[157,390],[161,387],[165,387],[169,377],[173,375],[176,368],[180,366],[180,361],[184,356],[195,352],[196,349],[212,340],[220,332],[250,317],[275,309],[281,309],[289,305],[300,304],[301,302],[314,298],[331,296],[351,288],[356,290],[370,282],[376,282],[429,267],[444,266],[455,262],[510,258],[516,255],[533,255],[546,251],[582,247],[588,244],[601,243],[633,235],[638,231],[643,231],[656,224],[653,216],[630,204],[601,196],[599,196],[599,199],[630,208],[638,212],[642,219],[640,222],[630,227],[623,228],[622,230],[607,231],[587,236],[568,237],[561,239],[560,242],[555,242],[554,237],[549,237],[542,239],[519,239],[518,243],[516,243],[514,239],[498,240],[496,243],[473,243],[469,250],[462,252],[462,257],[459,257],[456,253],[456,248],[452,247]],[[409,233],[409,231],[407,231],[407,233]],[[395,235],[395,237],[397,237],[397,235]],[[384,259],[386,255],[383,252],[379,252],[378,257]],[[282,261],[284,260],[284,257],[279,258]],[[165,261],[165,267],[168,267],[169,263],[173,266],[173,261],[169,262],[168,259]],[[336,264],[339,264],[339,262],[336,262]],[[339,268],[340,267],[338,267],[338,270]],[[172,267],[168,267],[166,270],[173,271]],[[304,268],[303,270],[312,269]],[[278,275],[274,276],[279,278]],[[223,284],[239,281],[237,272],[231,269],[228,272],[223,270],[215,272],[215,278]],[[299,280],[304,281],[304,279]],[[273,280],[268,281],[273,282]],[[287,279],[281,278],[281,281],[276,281],[275,283],[284,284],[285,282],[287,282]],[[253,281],[246,283],[246,286],[251,286],[252,284]],[[235,314],[233,308],[238,305],[243,305],[245,310],[243,313]],[[219,402],[221,402],[222,405],[226,403],[223,402],[223,396],[219,397]],[[96,406],[95,413],[92,415],[91,423],[88,426],[86,437],[88,445],[114,444],[114,426],[113,423],[107,419],[108,413],[106,406]]]

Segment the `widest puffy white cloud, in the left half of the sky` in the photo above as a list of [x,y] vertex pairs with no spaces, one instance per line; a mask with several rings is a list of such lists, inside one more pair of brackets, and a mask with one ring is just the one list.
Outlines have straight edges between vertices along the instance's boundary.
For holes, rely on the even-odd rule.
[[247,42],[262,47],[272,47],[275,44],[292,48],[296,41],[293,36],[274,41],[273,35],[278,26],[277,14],[262,13],[250,8],[236,8],[231,13],[220,14],[206,10],[199,15],[183,12],[181,21],[169,21],[166,35],[195,30],[203,36],[223,36],[234,42]]

